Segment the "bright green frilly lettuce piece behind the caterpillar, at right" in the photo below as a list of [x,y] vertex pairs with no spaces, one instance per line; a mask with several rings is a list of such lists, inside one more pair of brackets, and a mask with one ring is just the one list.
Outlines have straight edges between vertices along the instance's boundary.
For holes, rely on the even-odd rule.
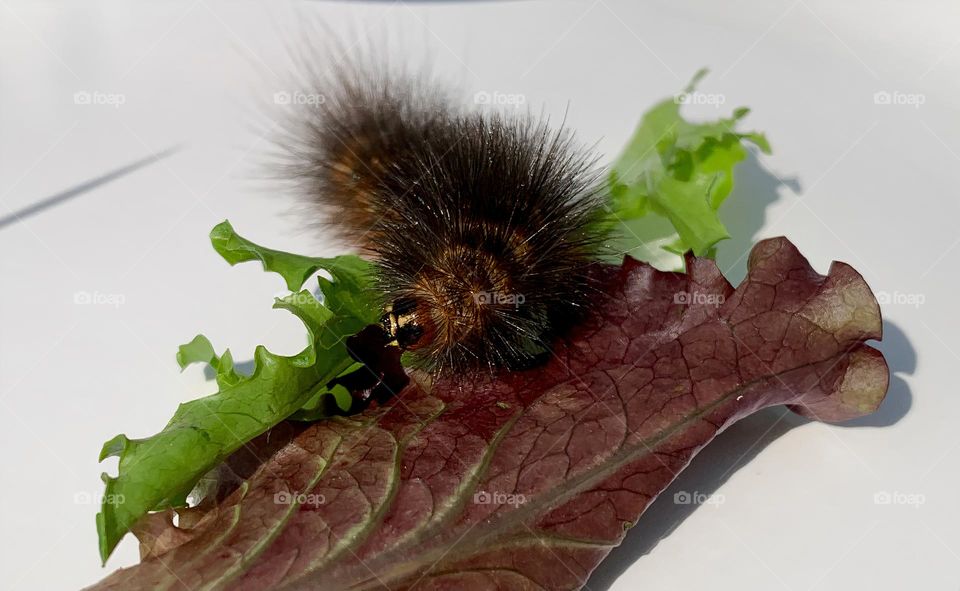
[[623,236],[615,246],[634,258],[655,262],[651,246],[713,256],[716,244],[730,237],[718,210],[733,189],[734,167],[747,157],[746,144],[770,153],[763,134],[736,130],[749,109],[706,123],[680,115],[687,97],[710,96],[696,92],[706,73],[701,70],[682,93],[650,109],[610,169],[609,205]]

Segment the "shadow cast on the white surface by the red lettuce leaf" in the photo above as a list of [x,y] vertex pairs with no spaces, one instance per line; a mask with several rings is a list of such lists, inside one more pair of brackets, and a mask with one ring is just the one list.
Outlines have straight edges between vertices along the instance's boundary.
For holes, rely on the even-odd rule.
[[[898,374],[916,370],[917,352],[903,330],[892,322],[883,323],[883,341],[871,343],[883,352],[890,366],[890,387],[876,412],[833,425],[841,428],[887,427],[910,411],[913,395]],[[794,427],[811,422],[785,407],[761,410],[718,435],[701,451],[677,479],[642,514],[636,527],[620,546],[594,570],[585,589],[606,591],[638,559],[649,554],[700,505],[680,503],[676,495],[703,498],[714,494],[739,468],[746,466],[768,445]],[[682,497],[681,497],[682,498]]]

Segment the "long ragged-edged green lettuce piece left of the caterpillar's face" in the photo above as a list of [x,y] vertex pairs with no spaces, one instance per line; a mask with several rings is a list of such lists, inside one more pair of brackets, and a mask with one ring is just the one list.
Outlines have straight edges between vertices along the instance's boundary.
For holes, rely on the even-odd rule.
[[[298,412],[320,418],[349,408],[349,394],[328,392],[326,384],[355,367],[344,339],[379,316],[370,263],[352,255],[315,258],[264,248],[239,236],[229,222],[217,225],[210,239],[231,265],[259,260],[264,270],[284,278],[293,293],[277,298],[273,307],[296,315],[309,342],[289,357],[257,347],[249,376],[234,370],[229,350],[217,355],[203,335],[180,347],[180,367],[210,365],[217,374],[218,392],[181,404],[152,437],[118,435],[104,444],[101,461],[120,458],[117,476],[103,475],[106,491],[97,532],[104,562],[140,518],[185,504],[204,474],[257,435]],[[320,270],[330,274],[330,279],[319,278],[322,302],[300,290]]]

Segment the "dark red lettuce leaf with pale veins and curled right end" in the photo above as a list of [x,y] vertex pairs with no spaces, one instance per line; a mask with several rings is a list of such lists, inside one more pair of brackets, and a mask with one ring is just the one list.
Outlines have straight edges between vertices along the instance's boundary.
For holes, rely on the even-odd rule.
[[[325,420],[216,502],[140,524],[146,558],[95,589],[577,589],[718,432],[786,404],[842,421],[886,393],[877,302],[851,267],[824,277],[786,239],[734,290],[627,259],[593,319],[531,371],[423,376]],[[266,439],[266,440],[265,440]],[[248,452],[249,453],[249,452]],[[238,480],[243,480],[239,478]]]

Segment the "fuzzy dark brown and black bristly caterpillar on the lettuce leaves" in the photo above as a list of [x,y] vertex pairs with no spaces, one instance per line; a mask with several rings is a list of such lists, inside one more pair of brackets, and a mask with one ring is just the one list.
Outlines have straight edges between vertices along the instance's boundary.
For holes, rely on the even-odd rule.
[[593,297],[595,156],[563,126],[462,107],[424,76],[345,67],[322,96],[294,121],[289,171],[375,262],[387,340],[437,371],[548,354]]

